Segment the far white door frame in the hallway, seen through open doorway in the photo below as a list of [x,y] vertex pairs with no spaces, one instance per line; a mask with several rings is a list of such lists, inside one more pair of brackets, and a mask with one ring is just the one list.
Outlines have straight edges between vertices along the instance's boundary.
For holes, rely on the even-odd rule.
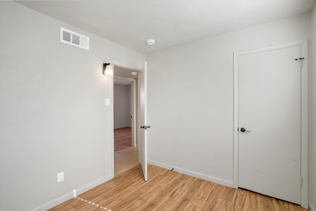
[[131,109],[132,109],[132,146],[136,147],[136,79],[126,78],[121,76],[114,76],[115,79],[123,79],[131,82]]

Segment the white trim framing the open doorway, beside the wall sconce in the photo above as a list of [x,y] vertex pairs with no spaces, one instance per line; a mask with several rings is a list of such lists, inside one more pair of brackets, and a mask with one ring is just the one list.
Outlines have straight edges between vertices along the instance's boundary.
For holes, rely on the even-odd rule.
[[[139,70],[138,67],[134,67],[129,64],[125,64],[116,60],[111,59],[112,70],[114,70],[114,66],[123,67],[132,70]],[[111,76],[111,174],[114,177],[114,76]],[[136,119],[136,118],[135,118]],[[137,126],[135,126],[136,128]],[[136,130],[137,131],[137,130]]]

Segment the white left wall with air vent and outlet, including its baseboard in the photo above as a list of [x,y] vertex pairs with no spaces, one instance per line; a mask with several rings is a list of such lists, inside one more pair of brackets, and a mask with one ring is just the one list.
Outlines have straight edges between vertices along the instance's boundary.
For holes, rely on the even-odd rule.
[[[90,50],[61,43],[60,27],[90,37]],[[140,69],[145,55],[0,1],[1,211],[46,210],[113,177],[111,59]]]

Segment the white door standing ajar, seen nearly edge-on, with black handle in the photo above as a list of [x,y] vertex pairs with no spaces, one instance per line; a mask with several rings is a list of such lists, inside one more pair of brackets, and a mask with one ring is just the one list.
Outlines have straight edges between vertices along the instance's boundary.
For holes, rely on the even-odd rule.
[[[138,155],[147,181],[147,62],[138,75],[139,120],[138,120]],[[141,128],[143,127],[143,128]]]

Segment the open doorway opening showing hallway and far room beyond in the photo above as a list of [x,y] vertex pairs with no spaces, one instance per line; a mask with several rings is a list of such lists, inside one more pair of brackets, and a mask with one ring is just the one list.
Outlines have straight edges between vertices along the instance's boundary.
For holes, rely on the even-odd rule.
[[114,66],[114,175],[139,165],[136,138],[138,71]]

